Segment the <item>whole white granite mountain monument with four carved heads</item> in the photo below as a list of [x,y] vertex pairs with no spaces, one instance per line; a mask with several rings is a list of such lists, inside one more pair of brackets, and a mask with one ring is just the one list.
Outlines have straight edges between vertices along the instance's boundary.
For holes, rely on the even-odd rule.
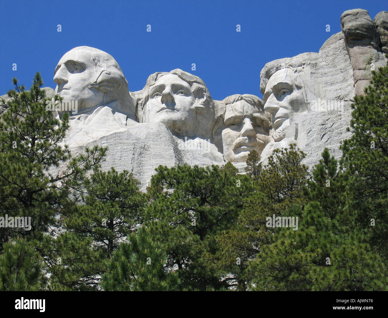
[[[371,70],[386,65],[388,12],[372,21],[366,10],[348,10],[340,21],[342,31],[319,52],[264,65],[263,100],[256,92],[213,100],[201,78],[180,69],[156,72],[142,90],[131,92],[111,55],[76,47],[54,70],[55,94],[77,102],[65,142],[73,152],[108,146],[103,168],[129,170],[142,189],[159,165],[230,161],[242,172],[253,149],[265,163],[274,149],[290,143],[307,153],[310,166],[325,147],[338,158],[341,140],[351,134],[346,127],[353,96],[363,94]],[[66,110],[57,108],[59,118]]]

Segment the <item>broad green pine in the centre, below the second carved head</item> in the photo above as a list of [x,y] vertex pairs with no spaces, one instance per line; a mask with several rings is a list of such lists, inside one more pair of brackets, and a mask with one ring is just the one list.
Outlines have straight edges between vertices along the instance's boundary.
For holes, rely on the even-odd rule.
[[249,177],[237,175],[228,164],[222,169],[159,166],[156,171],[148,188],[152,201],[145,224],[168,252],[166,266],[177,266],[182,288],[226,288],[225,273],[213,266],[216,235],[236,222],[250,191]]

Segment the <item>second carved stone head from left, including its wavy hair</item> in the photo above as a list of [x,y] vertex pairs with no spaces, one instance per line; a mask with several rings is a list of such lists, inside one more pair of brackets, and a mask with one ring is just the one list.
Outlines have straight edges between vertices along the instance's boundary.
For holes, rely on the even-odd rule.
[[214,103],[204,82],[182,70],[154,73],[143,89],[139,122],[161,122],[176,136],[206,137],[215,121]]

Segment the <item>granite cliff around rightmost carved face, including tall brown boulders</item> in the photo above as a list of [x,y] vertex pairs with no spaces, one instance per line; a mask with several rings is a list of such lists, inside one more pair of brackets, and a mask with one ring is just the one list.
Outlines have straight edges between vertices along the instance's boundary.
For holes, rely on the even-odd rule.
[[[383,29],[387,16],[380,12],[376,17],[375,23],[377,21],[377,26]],[[371,70],[386,65],[381,51],[383,44],[380,44],[385,43],[380,40],[385,29],[378,31],[366,10],[345,11],[341,16],[341,26],[342,32],[327,39],[318,53],[275,60],[262,69],[260,90],[264,94],[264,109],[276,110],[278,106],[281,111],[289,108],[289,112],[285,112],[287,116],[279,116],[287,119],[280,127],[276,127],[276,123],[273,127],[272,141],[262,152],[264,162],[267,162],[273,149],[290,143],[296,143],[307,153],[305,163],[309,166],[317,163],[326,147],[336,158],[341,156],[341,141],[351,134],[346,132],[346,127],[351,119],[353,96],[364,94],[364,88],[371,79]],[[288,76],[279,78],[277,75],[286,68],[289,69]],[[290,85],[287,88],[282,84],[284,99],[278,97],[275,103],[274,99],[268,103],[267,98],[273,93],[271,86],[277,83]],[[294,83],[296,87],[291,86]],[[293,100],[298,100],[294,95],[298,94],[298,89],[302,91],[303,101],[296,103],[299,107],[293,111]],[[300,112],[305,107],[307,111]],[[277,113],[273,116],[273,123]]]

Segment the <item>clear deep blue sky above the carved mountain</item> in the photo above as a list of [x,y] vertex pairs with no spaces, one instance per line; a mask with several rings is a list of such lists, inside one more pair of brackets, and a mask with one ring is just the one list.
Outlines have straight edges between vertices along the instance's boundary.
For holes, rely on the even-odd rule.
[[130,91],[142,89],[154,72],[181,68],[202,78],[213,99],[262,97],[265,63],[318,52],[341,31],[342,12],[356,8],[373,19],[388,10],[388,1],[0,0],[0,95],[13,88],[12,77],[29,89],[36,71],[44,86],[55,88],[54,68],[62,55],[88,45],[118,61]]

